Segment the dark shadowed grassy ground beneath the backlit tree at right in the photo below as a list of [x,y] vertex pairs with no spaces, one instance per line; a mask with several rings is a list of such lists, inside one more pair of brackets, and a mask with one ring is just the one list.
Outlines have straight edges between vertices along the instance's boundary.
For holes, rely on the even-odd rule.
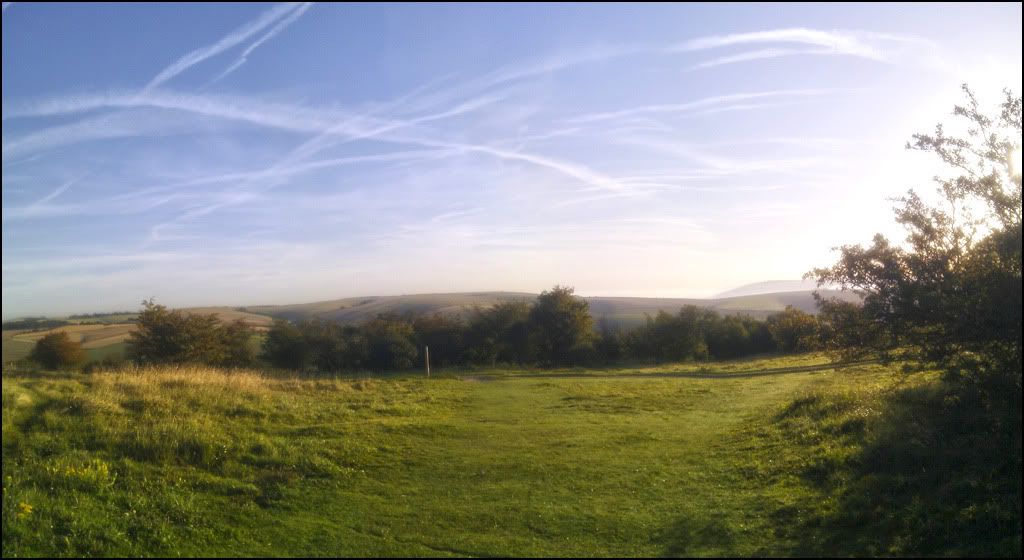
[[[812,408],[794,404],[783,415]],[[1019,381],[901,389],[872,426],[830,434],[862,445],[852,460],[810,461],[800,473],[836,508],[797,524],[774,512],[783,532],[792,527],[788,554],[1020,557]]]

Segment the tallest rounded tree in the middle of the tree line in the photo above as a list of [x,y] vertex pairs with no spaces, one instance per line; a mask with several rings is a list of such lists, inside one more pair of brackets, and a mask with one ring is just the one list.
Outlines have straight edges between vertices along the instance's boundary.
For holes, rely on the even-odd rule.
[[574,365],[594,350],[594,318],[571,288],[554,287],[537,297],[529,310],[530,346],[544,363]]

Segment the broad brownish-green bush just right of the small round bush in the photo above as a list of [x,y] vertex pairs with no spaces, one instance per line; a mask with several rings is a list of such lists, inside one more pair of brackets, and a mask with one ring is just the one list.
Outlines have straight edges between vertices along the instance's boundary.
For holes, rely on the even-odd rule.
[[241,320],[225,326],[215,315],[171,311],[151,299],[142,302],[137,322],[128,353],[139,363],[245,368],[255,362],[252,331]]

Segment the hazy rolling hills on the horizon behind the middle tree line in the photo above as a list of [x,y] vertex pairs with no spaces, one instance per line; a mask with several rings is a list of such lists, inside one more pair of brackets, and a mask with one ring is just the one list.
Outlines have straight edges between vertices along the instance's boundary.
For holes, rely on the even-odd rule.
[[[644,320],[645,314],[654,315],[659,310],[675,313],[684,305],[709,307],[723,314],[741,314],[765,318],[771,313],[792,305],[803,311],[816,311],[812,291],[775,292],[713,299],[697,298],[630,298],[589,297],[591,314],[595,318],[621,325],[634,326]],[[848,292],[823,290],[823,295],[856,301],[857,296]],[[274,318],[302,320],[319,317],[343,324],[358,324],[379,313],[446,313],[465,314],[474,306],[490,307],[504,301],[532,302],[537,294],[522,292],[470,292],[459,294],[418,294],[408,296],[368,296],[345,298],[295,305],[259,305],[244,308],[249,313]]]

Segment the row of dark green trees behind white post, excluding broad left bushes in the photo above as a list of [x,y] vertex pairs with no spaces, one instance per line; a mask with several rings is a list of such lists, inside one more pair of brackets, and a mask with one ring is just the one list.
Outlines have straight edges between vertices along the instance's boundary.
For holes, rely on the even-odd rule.
[[721,316],[694,305],[676,314],[660,311],[632,330],[604,319],[595,329],[586,300],[573,296],[571,288],[556,286],[532,304],[475,307],[466,319],[388,313],[358,327],[319,318],[297,325],[279,319],[264,339],[261,356],[276,368],[321,374],[420,367],[427,347],[435,369],[666,363],[806,352],[820,346],[817,329],[812,315],[792,307],[764,321]]

